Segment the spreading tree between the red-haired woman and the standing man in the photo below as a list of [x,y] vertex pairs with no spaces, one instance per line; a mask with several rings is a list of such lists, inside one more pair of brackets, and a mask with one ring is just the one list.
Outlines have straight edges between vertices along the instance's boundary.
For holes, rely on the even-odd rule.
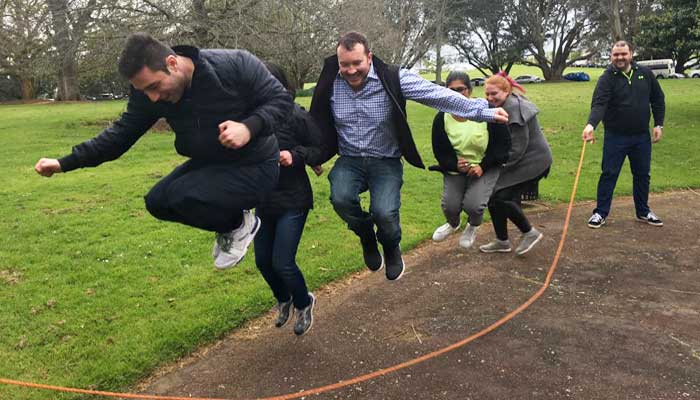
[[516,29],[530,56],[523,63],[539,67],[545,80],[560,80],[566,67],[595,52],[586,49],[580,56],[569,58],[585,43],[585,34],[595,28],[590,18],[594,5],[575,0],[539,0],[522,5]]

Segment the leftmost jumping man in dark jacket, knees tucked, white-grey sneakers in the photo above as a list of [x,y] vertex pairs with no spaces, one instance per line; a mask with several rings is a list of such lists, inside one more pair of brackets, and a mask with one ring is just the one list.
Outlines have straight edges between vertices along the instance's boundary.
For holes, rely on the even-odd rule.
[[132,85],[126,112],[71,154],[40,159],[36,171],[50,177],[114,160],[165,118],[177,152],[190,159],[150,190],[146,208],[216,232],[215,266],[236,265],[260,226],[248,210],[277,184],[272,132],[291,110],[291,95],[246,51],[170,48],[143,33],[127,40],[119,72]]

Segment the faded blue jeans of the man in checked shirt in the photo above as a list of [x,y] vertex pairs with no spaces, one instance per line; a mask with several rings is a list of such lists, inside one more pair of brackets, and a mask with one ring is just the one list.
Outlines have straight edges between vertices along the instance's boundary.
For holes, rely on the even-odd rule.
[[[399,207],[403,164],[399,158],[345,157],[336,160],[328,175],[335,212],[360,239],[377,239],[385,249],[401,242]],[[369,190],[369,212],[360,205],[360,193]]]

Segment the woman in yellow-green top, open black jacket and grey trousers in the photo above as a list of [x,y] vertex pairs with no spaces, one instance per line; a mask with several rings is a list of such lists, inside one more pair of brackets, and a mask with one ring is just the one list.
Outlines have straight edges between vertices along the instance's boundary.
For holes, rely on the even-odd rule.
[[[453,71],[447,76],[447,87],[471,96],[469,75]],[[439,112],[433,120],[433,153],[440,164],[431,167],[443,173],[442,211],[447,223],[433,233],[441,241],[460,226],[460,214],[467,214],[467,227],[459,245],[470,248],[476,239],[484,210],[498,180],[501,166],[508,161],[510,134],[502,124],[463,120]]]

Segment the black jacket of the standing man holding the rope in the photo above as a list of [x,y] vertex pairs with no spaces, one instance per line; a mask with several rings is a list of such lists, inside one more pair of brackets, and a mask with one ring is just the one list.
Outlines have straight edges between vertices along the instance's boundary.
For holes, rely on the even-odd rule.
[[598,79],[588,123],[596,127],[600,121],[606,130],[620,134],[648,134],[649,106],[654,126],[664,124],[666,104],[664,92],[654,73],[632,63],[632,79],[609,66]]

